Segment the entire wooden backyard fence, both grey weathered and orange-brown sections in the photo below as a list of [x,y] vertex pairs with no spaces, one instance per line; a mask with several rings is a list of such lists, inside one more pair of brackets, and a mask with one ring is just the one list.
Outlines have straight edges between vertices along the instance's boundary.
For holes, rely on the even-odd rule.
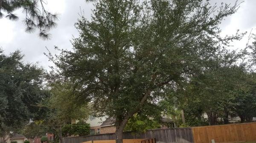
[[[145,133],[124,132],[123,139],[156,138],[156,143],[239,143],[256,141],[256,122],[192,128],[152,129]],[[115,140],[115,134],[65,137],[64,143],[82,143],[89,140]]]

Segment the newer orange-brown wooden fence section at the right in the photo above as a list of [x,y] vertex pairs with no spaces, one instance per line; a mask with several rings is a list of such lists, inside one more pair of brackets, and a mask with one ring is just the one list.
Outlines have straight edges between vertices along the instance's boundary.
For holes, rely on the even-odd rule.
[[195,143],[239,143],[256,141],[256,123],[200,126],[192,128]]

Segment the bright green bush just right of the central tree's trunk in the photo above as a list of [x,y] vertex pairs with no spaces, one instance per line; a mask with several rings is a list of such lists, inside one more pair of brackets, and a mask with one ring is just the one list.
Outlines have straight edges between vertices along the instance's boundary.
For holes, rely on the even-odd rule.
[[160,128],[160,123],[149,119],[146,116],[135,114],[129,119],[125,126],[125,131],[132,132],[146,132],[148,129],[158,129]]

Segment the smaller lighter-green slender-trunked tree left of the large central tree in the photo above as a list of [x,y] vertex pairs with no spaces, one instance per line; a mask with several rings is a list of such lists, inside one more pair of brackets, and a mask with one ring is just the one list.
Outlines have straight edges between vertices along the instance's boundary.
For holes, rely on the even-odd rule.
[[76,98],[76,91],[69,82],[55,81],[50,84],[49,92],[51,96],[42,106],[48,109],[48,114],[44,118],[44,125],[53,129],[60,143],[63,143],[62,127],[74,119],[79,120],[88,117],[87,101],[79,101]]

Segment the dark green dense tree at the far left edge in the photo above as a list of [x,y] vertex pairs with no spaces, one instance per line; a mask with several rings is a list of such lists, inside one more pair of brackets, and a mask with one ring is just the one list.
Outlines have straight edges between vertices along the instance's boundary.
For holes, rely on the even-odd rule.
[[5,55],[0,50],[0,135],[6,142],[10,131],[16,131],[29,120],[41,118],[36,107],[47,98],[42,85],[43,69],[36,64],[23,64],[23,55],[15,51]]

